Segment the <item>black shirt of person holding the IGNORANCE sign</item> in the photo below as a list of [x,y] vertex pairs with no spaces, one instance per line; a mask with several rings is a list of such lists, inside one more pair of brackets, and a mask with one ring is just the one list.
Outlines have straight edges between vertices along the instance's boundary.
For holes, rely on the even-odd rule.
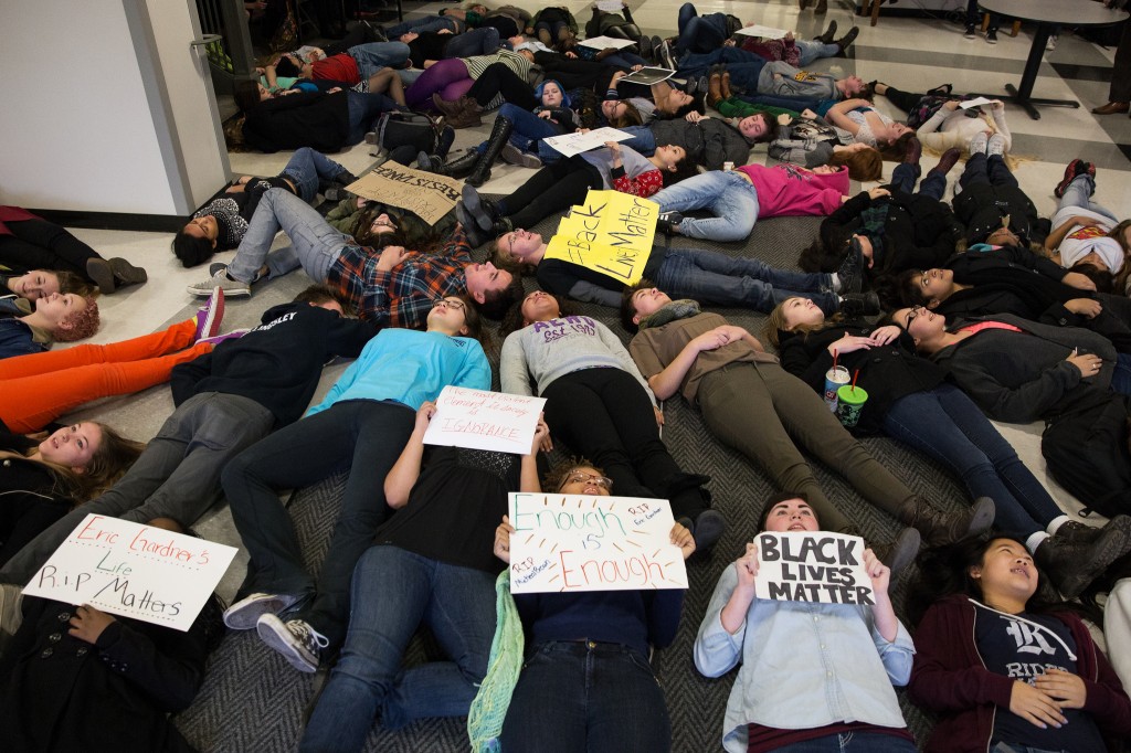
[[429,447],[408,503],[377,531],[388,544],[448,564],[498,573],[494,533],[509,492],[521,483],[521,459],[509,452]]

